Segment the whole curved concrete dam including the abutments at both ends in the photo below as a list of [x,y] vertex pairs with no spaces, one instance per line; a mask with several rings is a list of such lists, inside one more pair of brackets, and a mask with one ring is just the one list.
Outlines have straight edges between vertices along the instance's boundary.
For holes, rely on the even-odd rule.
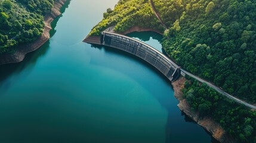
[[156,69],[161,71],[171,82],[180,77],[180,68],[173,61],[169,60],[164,54],[134,38],[129,38],[118,33],[102,32],[100,37],[89,36],[84,40],[87,43],[110,46],[112,48],[121,49],[136,55],[141,59],[152,64]]

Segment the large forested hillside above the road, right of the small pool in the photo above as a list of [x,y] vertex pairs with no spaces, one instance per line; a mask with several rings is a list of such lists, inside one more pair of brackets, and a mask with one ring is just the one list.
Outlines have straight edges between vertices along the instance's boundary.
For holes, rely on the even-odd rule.
[[256,1],[154,0],[169,29],[165,51],[181,67],[256,102]]

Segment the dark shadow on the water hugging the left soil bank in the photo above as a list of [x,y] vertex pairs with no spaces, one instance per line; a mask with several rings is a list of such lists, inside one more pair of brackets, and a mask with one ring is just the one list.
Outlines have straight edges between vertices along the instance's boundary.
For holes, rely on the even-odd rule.
[[[68,5],[70,4],[70,0],[68,0],[63,7],[61,7],[60,11],[63,14]],[[60,19],[61,15],[54,19],[51,23],[53,29],[50,31],[50,36],[52,37],[55,33],[55,27],[57,25],[58,20]],[[48,49],[50,48],[50,41],[47,41],[36,51],[30,52],[26,54],[26,57],[20,63],[14,64],[5,64],[0,66],[0,90],[1,92],[8,91],[8,88],[15,82],[13,76],[19,75],[22,71],[26,70],[26,72],[22,76],[26,76],[32,71],[33,67],[35,66],[36,62],[40,57],[43,57],[47,54]],[[6,80],[6,81],[5,81]],[[5,82],[4,82],[5,81]]]

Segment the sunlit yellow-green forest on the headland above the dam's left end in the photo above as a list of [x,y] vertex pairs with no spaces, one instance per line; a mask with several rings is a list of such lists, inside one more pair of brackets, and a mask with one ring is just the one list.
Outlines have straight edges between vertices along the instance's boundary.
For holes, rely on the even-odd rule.
[[116,32],[125,32],[133,26],[152,28],[164,32],[164,27],[156,18],[148,0],[122,0],[103,14],[100,21],[91,31],[90,35],[100,35],[107,27],[115,26]]

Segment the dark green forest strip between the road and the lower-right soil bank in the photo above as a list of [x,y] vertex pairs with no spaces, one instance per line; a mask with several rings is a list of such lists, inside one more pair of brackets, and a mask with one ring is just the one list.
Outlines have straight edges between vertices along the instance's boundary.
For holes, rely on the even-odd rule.
[[195,79],[186,81],[183,92],[193,111],[199,111],[200,117],[212,117],[236,142],[256,142],[256,111],[248,110]]

